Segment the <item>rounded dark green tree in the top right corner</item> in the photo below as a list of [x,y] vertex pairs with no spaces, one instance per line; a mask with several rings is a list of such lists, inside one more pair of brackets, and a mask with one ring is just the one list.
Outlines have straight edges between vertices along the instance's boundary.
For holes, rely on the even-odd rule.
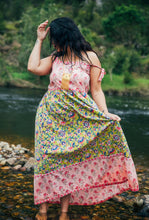
[[115,11],[103,20],[107,39],[129,47],[137,47],[140,44],[144,24],[143,12],[135,5],[116,7]]

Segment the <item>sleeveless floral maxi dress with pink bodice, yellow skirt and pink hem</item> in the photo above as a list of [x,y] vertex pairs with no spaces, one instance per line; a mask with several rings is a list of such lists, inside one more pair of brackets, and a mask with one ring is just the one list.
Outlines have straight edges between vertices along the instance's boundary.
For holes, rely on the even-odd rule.
[[[35,122],[34,202],[94,205],[126,190],[138,191],[134,163],[120,123],[108,118],[87,94],[90,65],[53,62],[48,91]],[[69,89],[61,87],[71,72]],[[104,76],[102,69],[99,81]]]

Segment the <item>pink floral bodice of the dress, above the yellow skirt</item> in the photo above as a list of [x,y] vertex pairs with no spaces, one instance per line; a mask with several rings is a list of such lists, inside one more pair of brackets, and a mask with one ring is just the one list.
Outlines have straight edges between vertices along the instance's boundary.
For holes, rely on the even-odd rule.
[[[88,93],[90,87],[90,65],[84,61],[76,61],[74,63],[65,62],[65,64],[55,59],[50,74],[50,84],[48,90],[61,89],[63,73],[70,74],[69,90]],[[104,77],[105,71],[101,68],[99,81]]]

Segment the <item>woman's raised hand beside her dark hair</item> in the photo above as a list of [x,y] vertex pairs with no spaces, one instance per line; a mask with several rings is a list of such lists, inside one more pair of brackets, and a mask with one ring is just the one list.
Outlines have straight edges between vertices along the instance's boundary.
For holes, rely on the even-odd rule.
[[37,28],[37,39],[40,41],[43,41],[46,36],[48,31],[50,30],[50,27],[48,27],[46,29],[46,26],[48,25],[48,20],[46,20],[45,22],[41,23],[38,28]]

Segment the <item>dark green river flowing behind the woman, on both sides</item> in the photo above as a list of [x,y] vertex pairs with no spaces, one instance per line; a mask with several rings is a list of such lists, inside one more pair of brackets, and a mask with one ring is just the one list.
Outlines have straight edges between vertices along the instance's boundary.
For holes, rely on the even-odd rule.
[[[34,148],[34,120],[45,91],[0,88],[0,140]],[[137,162],[149,165],[149,97],[106,96],[109,112],[121,126]]]

